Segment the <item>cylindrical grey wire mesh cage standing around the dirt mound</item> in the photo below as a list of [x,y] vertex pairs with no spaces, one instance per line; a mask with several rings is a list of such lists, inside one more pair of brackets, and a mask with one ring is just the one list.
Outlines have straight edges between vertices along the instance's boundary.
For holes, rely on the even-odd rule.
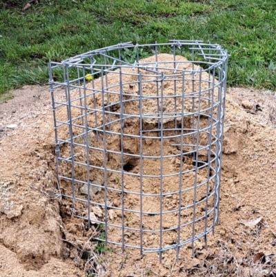
[[219,217],[227,61],[217,44],[181,40],[50,61],[59,188],[87,228],[101,227],[97,240],[160,259],[207,244]]

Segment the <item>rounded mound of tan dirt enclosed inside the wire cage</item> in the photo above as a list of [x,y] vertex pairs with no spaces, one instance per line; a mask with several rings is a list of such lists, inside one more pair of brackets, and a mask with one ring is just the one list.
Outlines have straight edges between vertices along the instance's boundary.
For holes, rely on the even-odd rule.
[[[109,240],[117,244],[124,240],[127,245],[139,247],[143,236],[144,247],[148,250],[158,249],[160,240],[162,247],[172,248],[178,240],[182,243],[190,240],[193,232],[195,236],[202,236],[202,233],[213,225],[213,206],[217,197],[214,157],[215,153],[219,152],[219,146],[214,140],[219,132],[216,119],[221,116],[217,105],[219,89],[210,87],[215,76],[202,72],[197,73],[200,77],[193,77],[190,73],[193,64],[181,56],[175,57],[179,71],[177,73],[172,55],[159,54],[158,66],[155,59],[153,56],[139,61],[140,66],[143,64],[146,70],[122,68],[121,71],[115,70],[88,84],[86,102],[89,113],[85,118],[83,108],[79,108],[84,101],[78,100],[84,92],[76,89],[70,91],[76,163],[73,188],[68,182],[68,178],[72,176],[72,163],[68,160],[72,155],[70,130],[66,124],[60,124],[57,128],[59,140],[63,142],[59,146],[59,155],[64,159],[59,163],[59,172],[64,176],[61,179],[61,191],[65,195],[75,195],[76,198],[74,202],[70,198],[64,203],[68,207],[72,206],[77,216],[89,220],[88,215],[92,215],[93,222],[97,218],[104,223],[106,211],[102,208],[107,198],[110,204],[106,222],[112,226],[106,230]],[[164,73],[161,83],[156,81],[160,78],[160,73],[153,74],[150,66]],[[183,75],[181,70],[187,70],[186,74]],[[197,93],[199,90],[200,99]],[[142,95],[141,99],[139,95]],[[162,98],[159,95],[162,95]],[[182,95],[185,95],[184,99]],[[122,107],[120,97],[123,98]],[[105,111],[102,111],[102,107]],[[163,113],[160,113],[159,109]],[[122,113],[124,126],[121,123]],[[66,122],[66,104],[56,109],[56,118],[58,122]],[[81,128],[86,124],[90,128],[88,134],[83,133],[84,127]],[[199,149],[193,147],[197,140],[194,135],[197,128]],[[208,132],[212,133],[213,137],[208,137]],[[141,134],[143,139],[140,142]],[[90,147],[89,155],[86,153],[87,142]],[[213,146],[208,153],[207,149],[211,143]],[[182,150],[175,144],[182,144]],[[143,155],[142,165],[139,162],[140,155]],[[198,164],[202,164],[200,169],[197,169],[196,159]],[[208,160],[210,166],[206,162]],[[106,170],[103,169],[104,164]],[[87,166],[90,166],[89,173]],[[99,189],[96,195],[90,195],[92,204],[89,207],[86,204],[88,193],[83,193],[87,184],[82,183],[87,182],[88,178],[95,183],[95,188]],[[179,179],[183,191],[180,196]],[[193,187],[195,182],[196,196]],[[140,195],[140,191],[143,195]],[[122,193],[125,195],[124,200]],[[165,196],[160,203],[161,194]],[[206,194],[210,195],[208,200]],[[197,202],[195,211],[194,201]],[[99,211],[99,215],[94,214],[95,209]],[[162,216],[160,210],[164,213]],[[144,213],[142,218],[140,211]],[[195,226],[193,218],[197,218]],[[124,238],[121,230],[122,220],[125,220],[126,228]],[[160,220],[163,221],[161,226]],[[140,231],[141,222],[144,227]],[[181,231],[178,231],[179,225],[184,225]],[[161,233],[160,229],[166,231]]]

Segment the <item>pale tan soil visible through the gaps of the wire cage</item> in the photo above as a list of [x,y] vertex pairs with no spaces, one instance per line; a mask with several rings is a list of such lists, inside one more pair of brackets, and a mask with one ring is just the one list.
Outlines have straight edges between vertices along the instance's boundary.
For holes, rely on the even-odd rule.
[[[177,126],[181,126],[183,124],[184,128],[192,128],[192,122],[193,122],[193,116],[192,115],[186,115],[184,118],[184,122],[181,122],[181,117],[177,117],[176,119],[171,116],[171,114],[168,116],[168,113],[171,113],[172,111],[177,111],[178,113],[181,113],[181,106],[184,106],[184,109],[186,112],[192,113],[192,111],[197,111],[200,109],[202,113],[202,117],[200,117],[200,128],[206,128],[208,126],[208,117],[204,117],[207,115],[206,110],[208,108],[208,100],[204,99],[208,97],[208,94],[210,93],[208,91],[208,83],[202,82],[201,84],[201,90],[206,90],[201,93],[201,101],[200,101],[200,108],[198,99],[193,100],[188,97],[187,95],[193,93],[194,90],[199,90],[199,82],[191,82],[190,78],[191,75],[186,75],[183,79],[182,75],[178,75],[175,79],[175,82],[172,81],[172,75],[174,74],[173,70],[173,63],[170,63],[172,60],[172,55],[169,54],[159,54],[158,60],[162,61],[159,63],[159,66],[163,69],[162,72],[166,74],[166,77],[164,77],[164,80],[161,84],[157,85],[157,82],[152,81],[152,73],[150,71],[146,70],[140,70],[140,72],[143,73],[143,76],[141,76],[141,80],[143,83],[141,84],[141,87],[137,84],[137,76],[138,71],[133,70],[133,68],[123,68],[122,73],[123,76],[121,77],[122,83],[124,86],[124,93],[127,94],[127,96],[124,96],[124,100],[126,102],[124,103],[124,113],[127,113],[128,115],[139,115],[140,106],[141,106],[141,112],[144,115],[143,119],[143,129],[150,130],[150,133],[146,133],[149,137],[147,139],[144,139],[142,142],[142,148],[140,149],[140,142],[139,139],[136,137],[128,137],[127,135],[137,135],[139,136],[139,128],[140,128],[140,120],[139,118],[131,117],[127,118],[124,121],[124,130],[121,130],[121,124],[119,122],[119,119],[121,117],[120,115],[120,106],[118,104],[119,102],[119,93],[120,93],[120,86],[116,86],[119,84],[119,70],[115,70],[113,73],[108,73],[107,80],[106,80],[106,86],[110,87],[112,93],[107,95],[105,93],[102,95],[101,93],[101,79],[95,79],[95,82],[90,82],[86,86],[86,88],[95,88],[99,91],[99,93],[96,93],[95,98],[93,96],[87,97],[87,103],[88,108],[95,108],[101,109],[102,103],[105,102],[106,104],[110,104],[110,111],[112,111],[112,115],[106,115],[103,118],[103,114],[97,113],[97,117],[95,116],[95,113],[88,114],[87,115],[87,122],[88,126],[94,127],[100,126],[103,124],[103,120],[105,124],[110,126],[110,131],[120,133],[121,131],[124,132],[124,153],[132,154],[132,155],[139,155],[140,152],[143,152],[143,155],[147,156],[158,156],[161,155],[160,149],[161,149],[161,142],[159,139],[150,139],[151,136],[156,137],[158,136],[157,130],[157,119],[154,119],[154,114],[157,113],[157,99],[155,98],[146,98],[146,97],[152,97],[156,96],[157,88],[159,90],[159,94],[162,93],[164,95],[164,99],[162,101],[162,111],[164,111],[164,120],[162,120],[163,128],[164,130],[164,140],[162,141],[163,145],[163,155],[172,155],[179,153],[179,149],[173,144],[180,143],[180,131],[177,135],[179,135],[179,138],[168,138],[168,136],[176,135],[175,131],[168,131],[168,129],[174,129],[175,124]],[[175,60],[179,65],[177,66],[178,70],[186,69],[186,70],[192,70],[193,64],[187,61],[186,58],[181,57],[177,55],[175,57]],[[152,62],[155,64],[155,56],[148,57],[146,59],[141,59],[140,62],[143,62],[144,64],[148,64]],[[159,68],[159,70],[161,70]],[[136,75],[133,75],[136,74]],[[201,79],[208,80],[210,76],[208,73],[201,73]],[[184,84],[184,85],[183,85]],[[162,90],[161,90],[162,86]],[[137,94],[139,94],[139,88],[141,89],[141,93],[144,96],[144,99],[139,102],[137,99]],[[185,92],[183,92],[183,89],[185,88]],[[109,90],[109,91],[110,91]],[[79,90],[71,90],[70,93],[70,99],[77,99],[79,97]],[[83,91],[81,93],[84,93]],[[88,92],[86,92],[88,93]],[[117,93],[117,94],[116,94]],[[172,100],[172,96],[181,95],[182,93],[185,93],[186,98],[185,102],[181,97],[176,97],[175,101]],[[215,89],[214,92],[214,99],[217,99],[217,89]],[[189,95],[190,96],[190,95]],[[209,96],[210,97],[210,96]],[[160,101],[159,101],[160,102]],[[76,104],[83,104],[83,102],[75,102]],[[193,104],[192,104],[193,103]],[[112,104],[112,105],[111,105]],[[176,108],[175,108],[176,104]],[[160,105],[160,104],[159,104]],[[194,110],[193,110],[193,108]],[[160,108],[160,107],[159,107]],[[116,114],[117,113],[117,114]],[[213,117],[217,117],[218,109],[213,108]],[[78,106],[71,108],[71,115],[72,118],[76,118],[76,120],[73,120],[73,124],[81,125],[85,124],[81,121],[79,116],[81,116],[81,111]],[[145,116],[148,116],[147,118]],[[57,108],[56,111],[56,118],[59,121],[65,121],[67,117],[67,110],[64,107]],[[96,122],[97,119],[97,122]],[[108,122],[112,122],[108,124]],[[197,122],[195,122],[195,126],[197,126]],[[196,127],[195,127],[196,128]],[[82,129],[78,126],[73,126],[72,133],[74,135],[81,135]],[[216,132],[216,127],[213,127],[212,130],[213,133]],[[59,138],[61,140],[68,140],[69,139],[69,130],[67,126],[63,125],[58,128],[58,134]],[[97,149],[106,148],[108,151],[112,151],[112,153],[107,154],[107,161],[106,161],[106,167],[108,169],[112,170],[121,170],[121,136],[120,135],[106,135],[106,145],[103,146],[103,134],[99,133],[99,141],[96,141],[96,133],[90,132],[88,134],[87,140],[89,140],[89,145],[92,147],[97,147]],[[75,138],[75,142],[79,144],[83,144],[83,136],[79,136]],[[185,135],[184,136],[184,144],[193,144],[193,135]],[[201,146],[206,146],[208,144],[208,136],[204,132],[199,133],[199,144]],[[104,164],[104,155],[102,151],[98,151],[97,149],[90,149],[89,150],[89,163],[90,165],[94,166],[103,166]],[[184,151],[190,151],[193,150],[190,147],[186,147]],[[214,152],[216,151],[215,147],[212,149]],[[117,153],[120,154],[117,154]],[[75,146],[74,153],[76,155],[75,160],[77,162],[81,162],[83,164],[86,164],[87,162],[87,154],[86,149],[83,146]],[[70,144],[64,144],[60,147],[60,155],[61,157],[70,157]],[[199,161],[206,161],[208,160],[208,152],[203,149],[197,151],[198,160]],[[194,201],[194,189],[193,189],[193,182],[195,180],[195,172],[191,172],[194,170],[195,166],[193,165],[193,157],[191,155],[186,155],[183,157],[184,162],[182,169],[184,171],[190,171],[186,172],[182,178],[182,189],[187,189],[185,193],[181,193],[181,203],[185,203],[186,206],[193,205]],[[117,209],[108,209],[108,213],[112,213],[112,216],[108,217],[108,224],[112,223],[113,225],[120,226],[121,225],[121,194],[118,193],[118,191],[112,191],[112,189],[121,189],[121,184],[124,184],[124,189],[126,192],[126,195],[124,196],[124,209],[129,209],[132,211],[128,211],[124,213],[124,218],[126,218],[126,224],[128,227],[139,229],[140,227],[140,220],[139,215],[135,211],[140,210],[140,203],[142,203],[142,210],[144,213],[143,216],[143,225],[144,229],[148,230],[158,230],[160,225],[160,215],[158,214],[160,212],[160,200],[159,196],[149,196],[149,195],[143,195],[142,200],[140,200],[140,195],[135,195],[132,192],[139,193],[140,191],[140,179],[137,178],[136,175],[127,175],[128,173],[139,173],[140,172],[140,164],[139,160],[137,158],[124,155],[124,166],[126,164],[131,164],[131,169],[125,170],[124,178],[121,177],[120,174],[115,172],[108,171],[107,173],[107,193],[105,193],[104,189],[99,189],[96,195],[92,195],[91,198],[94,202],[97,202],[97,204],[90,205],[90,213],[93,212],[93,209],[98,209],[99,215],[95,216],[98,218],[98,220],[103,221],[105,213],[104,211],[101,211],[101,203],[105,202],[105,195],[108,199],[108,201],[111,204],[112,207],[117,207]],[[212,164],[213,168],[215,168],[215,162]],[[152,159],[152,158],[146,158],[143,159],[143,173],[150,173],[151,175],[160,175],[160,160],[159,159]],[[180,171],[180,158],[173,157],[173,158],[164,158],[162,160],[162,174],[172,174],[175,173],[177,175],[173,175],[170,177],[166,177],[163,179],[163,193],[167,193],[168,196],[164,197],[164,201],[162,203],[162,210],[166,211],[168,213],[164,214],[162,216],[163,220],[163,228],[164,229],[171,229],[171,228],[177,228],[179,225],[179,213],[173,211],[177,210],[179,207],[179,195],[178,193],[175,194],[176,191],[179,190],[179,171]],[[70,178],[71,175],[71,164],[67,162],[63,162],[60,164],[59,172],[61,175],[66,176]],[[92,182],[97,182],[100,185],[103,185],[104,181],[104,175],[103,170],[92,168],[90,169],[90,175],[89,178]],[[209,175],[208,175],[209,174]],[[204,181],[207,181],[207,176],[210,176],[210,182],[208,182],[208,191],[209,193],[213,192],[214,187],[214,178],[213,177],[214,171],[210,171],[208,173],[207,167],[205,169],[201,169],[197,172],[197,184],[201,183],[203,184]],[[76,165],[75,167],[75,179],[76,180],[82,180],[83,182],[86,182],[88,176],[87,176],[87,169],[86,166]],[[118,182],[119,180],[120,182]],[[124,181],[124,182],[123,182]],[[143,178],[143,192],[144,193],[159,193],[160,190],[160,180],[159,178]],[[87,194],[84,195],[82,192],[83,187],[81,187],[81,184],[75,185],[75,195],[77,198],[82,200],[87,200]],[[110,189],[110,187],[112,189]],[[190,190],[188,190],[190,188]],[[72,186],[70,185],[70,182],[66,180],[61,180],[61,190],[66,195],[72,195]],[[202,185],[197,189],[197,201],[202,200],[206,197],[206,186]],[[64,204],[66,204],[66,207],[70,209],[72,202],[71,200],[63,201]],[[212,209],[213,207],[213,198],[210,197],[208,200],[208,211]],[[88,207],[86,207],[86,203],[83,201],[75,201],[75,213],[78,216],[85,216],[88,217]],[[206,202],[202,202],[201,204],[197,204],[197,208],[195,209],[195,216],[196,218],[200,218],[201,216],[205,215],[206,210]],[[148,213],[157,213],[157,214],[150,214],[148,216]],[[190,207],[186,209],[185,211],[181,211],[181,223],[184,225],[187,222],[192,222],[193,220],[193,208]],[[208,219],[206,220],[206,228],[210,227],[213,223],[213,215],[208,216]],[[197,222],[197,234],[201,233],[204,230],[204,220],[201,220],[201,222]],[[189,225],[187,227],[181,228],[181,232],[179,232],[179,240],[184,241],[188,240],[192,233],[192,226]],[[139,231],[132,231],[132,230],[126,230],[125,232],[125,238],[124,240],[128,245],[140,245],[140,233]],[[121,228],[120,227],[108,227],[106,236],[110,238],[113,242],[121,243]],[[164,231],[163,233],[163,245],[165,247],[170,247],[170,245],[174,244],[175,241],[178,239],[178,233],[175,230],[171,231]],[[145,247],[148,248],[157,248],[159,247],[159,241],[160,236],[159,234],[152,234],[144,232],[143,234],[143,243]]]

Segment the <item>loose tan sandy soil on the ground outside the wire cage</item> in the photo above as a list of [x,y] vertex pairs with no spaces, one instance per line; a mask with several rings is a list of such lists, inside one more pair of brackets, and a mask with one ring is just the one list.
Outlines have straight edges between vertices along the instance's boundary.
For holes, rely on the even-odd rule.
[[[90,265],[99,276],[262,276],[273,267],[273,255],[268,256],[276,252],[273,93],[228,89],[219,225],[208,236],[208,250],[199,240],[196,258],[186,246],[179,262],[175,251],[167,251],[161,265],[157,254],[121,253],[112,245],[100,263],[86,264],[95,251],[90,241],[95,230],[83,229],[82,220],[59,201],[48,88],[24,86],[13,95],[0,104],[0,276],[86,276]],[[270,259],[266,265],[253,265],[259,252]]]

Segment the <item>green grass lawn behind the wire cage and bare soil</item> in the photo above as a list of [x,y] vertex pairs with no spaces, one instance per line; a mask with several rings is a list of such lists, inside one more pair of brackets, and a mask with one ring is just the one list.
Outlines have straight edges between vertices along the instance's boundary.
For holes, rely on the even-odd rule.
[[276,89],[275,0],[41,0],[24,12],[27,1],[3,2],[8,4],[0,3],[0,94],[47,84],[49,59],[126,41],[175,38],[227,49],[230,86]]

